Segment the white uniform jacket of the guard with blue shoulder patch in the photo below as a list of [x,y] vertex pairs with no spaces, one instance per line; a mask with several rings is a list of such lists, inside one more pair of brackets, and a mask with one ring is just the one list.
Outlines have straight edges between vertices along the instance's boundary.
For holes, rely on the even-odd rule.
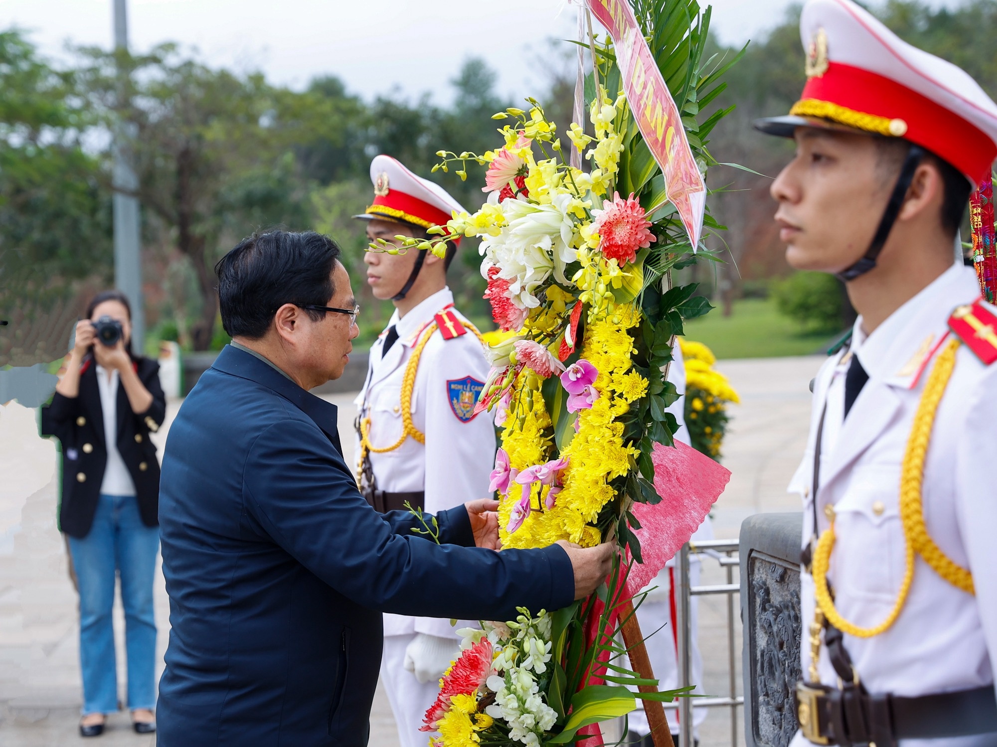
[[[398,342],[384,358],[381,350],[385,333],[371,346],[367,380],[356,404],[361,417],[370,417],[369,436],[375,447],[390,446],[402,435],[402,379],[413,348],[433,317],[453,302],[454,295],[445,288],[402,319],[396,311],[388,326],[396,326]],[[462,315],[458,317],[466,321]],[[451,382],[455,382],[455,389],[468,377],[484,383],[488,372],[482,343],[470,329],[466,335],[451,340],[444,340],[439,331],[433,333],[419,361],[411,407],[413,423],[426,435],[426,444],[409,437],[394,451],[372,453],[371,465],[379,490],[425,491],[428,514],[489,497],[496,453],[492,415],[482,412],[465,421],[467,413],[451,401]],[[359,439],[354,453],[359,460]],[[443,592],[426,590],[426,594]],[[422,632],[457,638],[455,629],[449,620],[384,616],[385,635]]]

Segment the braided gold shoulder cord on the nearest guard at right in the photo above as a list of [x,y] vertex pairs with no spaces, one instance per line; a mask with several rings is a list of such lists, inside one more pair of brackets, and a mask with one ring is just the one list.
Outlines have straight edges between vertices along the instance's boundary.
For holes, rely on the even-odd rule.
[[903,466],[900,473],[900,521],[903,526],[903,539],[906,544],[906,568],[903,573],[903,583],[896,604],[883,622],[874,627],[859,627],[844,620],[834,608],[831,592],[828,589],[828,570],[831,566],[831,550],[834,546],[834,522],[818,542],[814,553],[814,587],[817,600],[815,617],[824,616],[831,624],[842,632],[859,638],[870,638],[873,635],[889,629],[896,622],[900,610],[910,592],[910,583],[914,578],[914,556],[919,555],[942,579],[967,594],[975,594],[973,577],[969,571],[956,565],[942,552],[934,540],[928,535],[924,523],[924,506],[921,503],[921,483],[924,478],[924,457],[927,454],[928,443],[931,440],[931,428],[934,425],[938,403],[945,393],[945,387],[955,368],[955,353],[959,341],[952,340],[938,356],[931,374],[924,385],[924,393],[917,405],[914,415],[914,425],[907,439],[907,448],[903,455]]

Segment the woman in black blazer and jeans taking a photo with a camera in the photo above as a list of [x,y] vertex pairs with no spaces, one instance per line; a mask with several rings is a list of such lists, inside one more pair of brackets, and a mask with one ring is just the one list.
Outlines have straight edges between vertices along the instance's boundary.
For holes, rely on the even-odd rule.
[[166,412],[159,364],[132,352],[132,311],[118,291],[98,294],[42,430],[62,442],[60,521],[80,591],[85,737],[118,710],[112,608],[121,576],[128,652],[128,707],[140,734],[156,731],[153,577],[160,547],[160,463],[150,432]]

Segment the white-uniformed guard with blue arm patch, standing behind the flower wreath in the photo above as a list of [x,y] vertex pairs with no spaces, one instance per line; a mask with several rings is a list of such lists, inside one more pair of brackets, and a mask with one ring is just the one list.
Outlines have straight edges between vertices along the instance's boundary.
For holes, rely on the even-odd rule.
[[[464,208],[438,184],[387,155],[371,163],[374,201],[357,216],[374,241],[426,236]],[[432,237],[439,240],[439,237]],[[489,495],[496,435],[487,412],[474,414],[489,364],[478,330],[454,308],[446,258],[410,249],[369,251],[367,282],[395,313],[370,351],[367,380],[357,397],[361,492],[378,511],[406,503],[436,513]],[[439,590],[427,589],[427,594]],[[381,678],[398,723],[402,747],[424,747],[420,732],[436,700],[439,678],[458,653],[448,620],[384,616]]]

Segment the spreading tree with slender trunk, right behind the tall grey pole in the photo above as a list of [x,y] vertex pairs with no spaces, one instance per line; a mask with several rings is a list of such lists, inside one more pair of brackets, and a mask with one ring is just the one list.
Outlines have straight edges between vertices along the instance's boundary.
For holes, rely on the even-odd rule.
[[[108,127],[134,128],[138,197],[196,276],[201,308],[189,332],[194,350],[207,350],[222,241],[258,225],[307,227],[306,190],[292,186],[290,143],[298,131],[280,119],[287,92],[258,73],[240,77],[184,59],[174,45],[140,57],[84,54],[89,105]],[[124,85],[122,68],[129,73]]]

